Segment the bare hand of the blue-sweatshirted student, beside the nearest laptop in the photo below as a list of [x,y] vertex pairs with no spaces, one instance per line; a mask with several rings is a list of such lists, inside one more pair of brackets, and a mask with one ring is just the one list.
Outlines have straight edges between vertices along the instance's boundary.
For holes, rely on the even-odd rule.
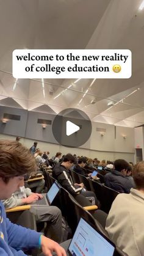
[[41,236],[41,250],[45,256],[52,256],[52,252],[56,252],[57,256],[67,256],[65,250],[55,241]]

